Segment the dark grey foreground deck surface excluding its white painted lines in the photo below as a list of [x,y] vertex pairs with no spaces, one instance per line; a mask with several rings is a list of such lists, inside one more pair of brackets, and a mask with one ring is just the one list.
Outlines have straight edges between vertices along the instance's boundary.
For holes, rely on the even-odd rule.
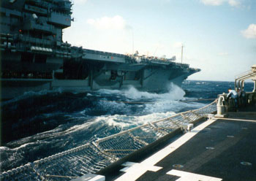
[[[256,109],[229,112],[227,119],[212,123],[159,161],[155,166],[162,169],[158,172],[147,171],[138,180],[177,180],[179,177],[166,174],[172,169],[222,180],[256,180],[256,121],[231,120],[233,118],[256,120]],[[184,167],[176,168],[174,164]],[[116,176],[121,174],[116,172]],[[106,180],[115,178],[113,174],[110,177],[106,175]]]

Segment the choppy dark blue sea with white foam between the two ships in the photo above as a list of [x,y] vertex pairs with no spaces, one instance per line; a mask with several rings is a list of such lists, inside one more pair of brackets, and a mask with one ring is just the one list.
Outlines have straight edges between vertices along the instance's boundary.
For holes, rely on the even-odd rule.
[[[120,131],[211,103],[233,82],[186,80],[165,93],[28,92],[1,102],[1,172]],[[246,83],[252,90],[252,82]]]

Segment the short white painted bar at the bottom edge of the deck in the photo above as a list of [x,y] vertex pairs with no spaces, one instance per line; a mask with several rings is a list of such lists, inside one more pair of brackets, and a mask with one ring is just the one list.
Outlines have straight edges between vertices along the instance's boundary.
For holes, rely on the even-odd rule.
[[217,178],[217,177],[209,177],[209,176],[205,176],[203,174],[193,174],[190,172],[184,172],[184,171],[180,171],[180,170],[176,170],[176,169],[172,169],[170,172],[167,172],[166,174],[171,174],[171,175],[175,175],[179,178],[176,181],[221,181],[222,179]]

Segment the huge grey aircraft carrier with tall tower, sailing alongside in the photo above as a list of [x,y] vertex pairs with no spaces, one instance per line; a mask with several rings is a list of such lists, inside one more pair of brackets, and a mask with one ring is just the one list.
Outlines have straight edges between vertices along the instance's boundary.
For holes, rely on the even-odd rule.
[[[88,50],[62,41],[69,0],[1,1],[1,99],[29,90],[167,90],[200,69],[156,58]],[[82,37],[81,37],[82,38]]]

